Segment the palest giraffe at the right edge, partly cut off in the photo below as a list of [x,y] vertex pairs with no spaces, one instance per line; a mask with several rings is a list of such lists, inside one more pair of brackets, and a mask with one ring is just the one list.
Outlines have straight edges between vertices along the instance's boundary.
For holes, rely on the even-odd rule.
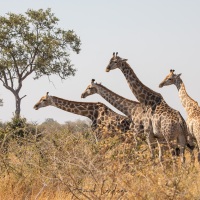
[[181,74],[175,74],[175,70],[170,70],[170,73],[159,84],[159,87],[174,84],[179,93],[179,98],[187,114],[187,128],[189,139],[196,139],[198,148],[198,162],[200,163],[200,107],[186,92],[185,85],[180,78]]

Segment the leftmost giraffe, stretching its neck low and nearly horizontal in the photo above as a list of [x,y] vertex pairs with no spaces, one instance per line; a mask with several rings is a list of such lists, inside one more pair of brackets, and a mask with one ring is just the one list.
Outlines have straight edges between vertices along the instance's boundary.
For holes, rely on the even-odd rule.
[[130,130],[131,120],[128,117],[119,115],[100,102],[77,102],[50,96],[47,92],[45,96],[34,105],[34,109],[46,106],[54,106],[67,112],[82,115],[92,121],[92,131],[96,133],[96,139],[106,138],[123,134]]

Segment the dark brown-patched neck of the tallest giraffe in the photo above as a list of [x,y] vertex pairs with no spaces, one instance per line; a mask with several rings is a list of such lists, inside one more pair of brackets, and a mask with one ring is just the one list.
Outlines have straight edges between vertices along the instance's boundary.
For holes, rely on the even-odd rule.
[[155,106],[161,100],[164,101],[161,94],[151,90],[138,79],[128,63],[123,63],[119,69],[124,74],[132,93],[140,103]]

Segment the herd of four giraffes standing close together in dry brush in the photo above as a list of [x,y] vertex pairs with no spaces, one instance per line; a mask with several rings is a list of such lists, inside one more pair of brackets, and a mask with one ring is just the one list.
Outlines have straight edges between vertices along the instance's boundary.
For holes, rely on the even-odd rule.
[[[194,160],[194,143],[197,143],[198,162],[200,163],[200,108],[186,92],[181,74],[170,74],[160,83],[159,87],[176,85],[181,103],[186,110],[187,120],[179,111],[171,108],[160,93],[145,86],[134,73],[127,59],[122,59],[118,53],[113,53],[106,72],[120,69],[136,97],[137,101],[126,99],[102,84],[92,79],[89,86],[82,93],[81,98],[99,94],[124,115],[117,114],[100,102],[76,102],[59,97],[50,96],[48,92],[34,108],[55,106],[67,112],[82,115],[91,119],[91,128],[96,133],[96,139],[115,134],[132,133],[134,137],[145,136],[152,158],[155,157],[154,147],[158,146],[159,160],[163,160],[164,148],[173,154],[180,154],[181,162],[185,162],[185,148],[187,147]],[[108,134],[109,133],[109,134]],[[179,151],[178,151],[179,150]]]

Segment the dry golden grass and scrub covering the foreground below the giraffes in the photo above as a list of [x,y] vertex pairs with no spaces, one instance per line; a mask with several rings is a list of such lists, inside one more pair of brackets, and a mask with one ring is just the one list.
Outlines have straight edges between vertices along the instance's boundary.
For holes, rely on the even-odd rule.
[[169,155],[163,165],[151,161],[142,142],[135,148],[116,136],[96,144],[87,129],[41,130],[1,144],[0,199],[199,199],[200,168],[189,153],[174,168]]

